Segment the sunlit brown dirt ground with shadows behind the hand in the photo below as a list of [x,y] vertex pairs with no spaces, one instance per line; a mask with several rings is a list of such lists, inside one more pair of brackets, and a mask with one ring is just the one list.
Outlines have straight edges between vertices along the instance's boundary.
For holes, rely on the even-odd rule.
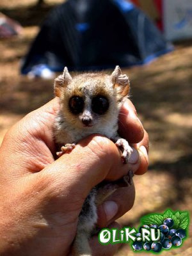
[[[0,144],[10,126],[53,97],[52,81],[29,80],[20,76],[19,67],[38,25],[61,2],[47,0],[36,8],[33,0],[1,0],[0,12],[19,20],[24,28],[19,37],[0,40]],[[131,78],[131,99],[150,136],[150,166],[145,175],[134,177],[136,201],[120,222],[137,227],[141,216],[167,208],[189,211],[191,216],[192,43],[177,44],[175,51],[150,65],[124,72]],[[192,255],[191,235],[192,225],[180,248],[161,255]],[[128,254],[136,255],[125,245],[116,255]]]

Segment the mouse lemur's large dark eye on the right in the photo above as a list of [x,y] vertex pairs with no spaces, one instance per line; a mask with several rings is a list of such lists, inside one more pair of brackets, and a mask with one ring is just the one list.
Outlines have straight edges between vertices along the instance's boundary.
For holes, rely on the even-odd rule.
[[96,114],[103,115],[109,108],[109,101],[106,97],[97,95],[92,99],[92,110]]

